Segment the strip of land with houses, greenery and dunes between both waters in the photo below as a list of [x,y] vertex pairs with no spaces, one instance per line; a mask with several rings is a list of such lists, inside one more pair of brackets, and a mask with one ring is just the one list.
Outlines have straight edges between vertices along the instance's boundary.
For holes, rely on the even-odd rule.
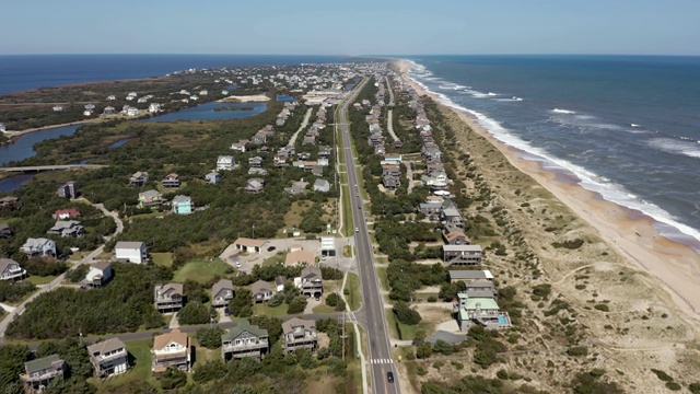
[[700,392],[658,285],[408,68],[0,96],[9,147],[79,125],[0,167],[0,386]]

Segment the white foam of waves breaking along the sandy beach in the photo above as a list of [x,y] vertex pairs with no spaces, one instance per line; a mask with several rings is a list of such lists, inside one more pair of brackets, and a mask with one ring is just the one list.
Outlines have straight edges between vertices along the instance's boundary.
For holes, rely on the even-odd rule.
[[[410,78],[410,74],[409,74]],[[680,223],[674,216],[668,213],[663,208],[649,202],[642,198],[639,198],[634,194],[628,192],[622,185],[619,185],[604,176],[595,174],[580,165],[573,164],[567,160],[559,159],[553,157],[545,149],[537,148],[532,146],[529,142],[523,140],[522,138],[513,135],[504,128],[498,120],[488,117],[485,114],[476,112],[474,109],[466,108],[462,105],[456,104],[450,97],[447,97],[443,93],[435,93],[428,89],[424,84],[417,81],[415,78],[411,78],[416,83],[425,89],[427,92],[435,94],[438,96],[438,102],[441,104],[455,108],[457,111],[462,111],[475,117],[477,121],[487,129],[494,138],[500,140],[501,142],[509,144],[513,148],[520,149],[527,153],[527,160],[538,161],[542,164],[544,169],[547,170],[557,170],[564,171],[573,176],[575,176],[580,182],[579,185],[583,188],[595,192],[600,195],[605,200],[618,204],[622,207],[638,210],[656,222],[661,223],[657,227],[657,231],[664,236],[674,237],[674,235],[682,235],[695,239],[697,242],[700,242],[700,231],[693,229],[687,224]],[[573,111],[555,108],[552,112],[559,112],[563,114],[575,114]],[[700,142],[700,141],[699,141]],[[700,148],[695,151],[700,157]],[[687,154],[687,151],[684,152]],[[676,233],[677,232],[677,233]],[[700,252],[700,251],[698,251]]]

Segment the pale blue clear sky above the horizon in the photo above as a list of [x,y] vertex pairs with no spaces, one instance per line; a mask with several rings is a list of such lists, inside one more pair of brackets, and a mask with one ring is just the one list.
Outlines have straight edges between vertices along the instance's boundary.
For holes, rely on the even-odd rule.
[[0,54],[700,55],[698,0],[0,0]]

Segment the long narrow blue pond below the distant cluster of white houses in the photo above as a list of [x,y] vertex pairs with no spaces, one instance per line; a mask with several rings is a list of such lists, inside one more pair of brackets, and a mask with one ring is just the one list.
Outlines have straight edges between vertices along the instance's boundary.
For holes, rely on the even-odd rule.
[[[217,111],[217,108],[233,108]],[[240,108],[240,109],[235,109]],[[159,115],[137,121],[177,121],[177,120],[226,120],[241,119],[261,114],[267,109],[265,103],[206,103],[178,112]]]

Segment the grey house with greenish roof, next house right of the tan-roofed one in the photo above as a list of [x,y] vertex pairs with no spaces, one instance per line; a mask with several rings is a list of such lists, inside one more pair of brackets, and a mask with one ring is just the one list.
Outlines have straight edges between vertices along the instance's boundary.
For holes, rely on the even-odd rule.
[[221,335],[221,357],[224,361],[244,357],[262,358],[269,351],[267,329],[242,320],[228,333]]

